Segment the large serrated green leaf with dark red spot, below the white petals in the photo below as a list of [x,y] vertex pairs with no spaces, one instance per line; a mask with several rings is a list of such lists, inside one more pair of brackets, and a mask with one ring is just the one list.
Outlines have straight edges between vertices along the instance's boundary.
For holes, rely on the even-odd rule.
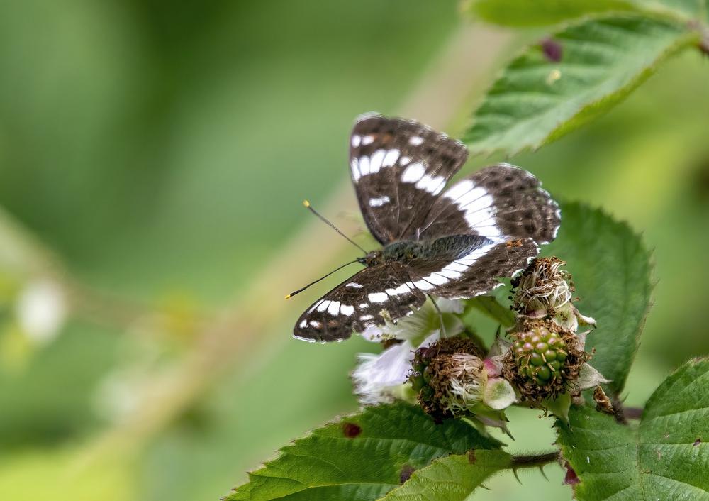
[[458,419],[435,424],[416,406],[369,407],[281,448],[227,500],[374,500],[435,458],[496,449]]

